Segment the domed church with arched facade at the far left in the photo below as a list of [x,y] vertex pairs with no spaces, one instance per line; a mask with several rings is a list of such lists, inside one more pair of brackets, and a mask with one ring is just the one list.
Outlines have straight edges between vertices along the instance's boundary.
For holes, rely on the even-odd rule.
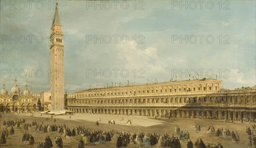
[[40,111],[41,100],[40,96],[33,94],[29,91],[26,85],[26,89],[22,92],[17,85],[15,79],[15,85],[11,88],[10,93],[3,84],[3,89],[0,93],[0,112],[20,112],[20,111]]

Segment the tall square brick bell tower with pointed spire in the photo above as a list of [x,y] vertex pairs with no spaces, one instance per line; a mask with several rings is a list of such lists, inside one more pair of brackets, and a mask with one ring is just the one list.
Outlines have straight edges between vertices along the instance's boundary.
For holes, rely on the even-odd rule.
[[58,14],[58,3],[55,9],[50,36],[51,110],[61,110],[64,109],[64,34]]

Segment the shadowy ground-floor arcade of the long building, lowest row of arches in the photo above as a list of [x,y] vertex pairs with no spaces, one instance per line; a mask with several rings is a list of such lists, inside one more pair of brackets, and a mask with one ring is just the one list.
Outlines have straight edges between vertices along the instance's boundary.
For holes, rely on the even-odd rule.
[[255,122],[256,111],[253,109],[228,109],[228,108],[81,108],[68,107],[76,113],[91,114],[120,114],[138,116],[157,116],[171,118],[202,118],[219,120],[251,120]]

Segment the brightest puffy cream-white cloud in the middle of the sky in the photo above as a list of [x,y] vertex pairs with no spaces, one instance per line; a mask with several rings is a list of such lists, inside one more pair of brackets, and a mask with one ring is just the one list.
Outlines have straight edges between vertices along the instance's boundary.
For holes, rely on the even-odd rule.
[[155,47],[146,47],[145,49],[137,48],[137,44],[129,41],[126,44],[117,44],[117,57],[125,60],[125,68],[140,69],[143,68],[147,72],[167,73],[167,68],[181,63],[188,63],[182,58],[164,58],[157,53]]

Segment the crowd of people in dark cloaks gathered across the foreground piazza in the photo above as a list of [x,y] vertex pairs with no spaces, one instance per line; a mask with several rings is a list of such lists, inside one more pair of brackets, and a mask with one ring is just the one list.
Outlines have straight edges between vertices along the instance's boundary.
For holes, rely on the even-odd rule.
[[[53,119],[53,117],[51,117]],[[47,117],[47,121],[50,118]],[[53,121],[53,120],[52,120]],[[96,125],[101,120],[96,121]],[[109,120],[110,125],[115,125],[114,120]],[[127,124],[131,124],[131,120],[128,120]],[[36,122],[35,120],[32,123],[26,123],[24,118],[20,118],[19,120],[10,120],[7,118],[3,120],[3,125],[6,128],[3,128],[1,134],[1,144],[6,143],[6,138],[15,134],[15,128],[21,129],[23,126],[24,132],[21,134],[21,141],[23,145],[35,145],[35,139],[32,134],[45,133],[52,134],[56,133],[59,136],[54,137],[54,143],[51,138],[47,136],[43,142],[39,142],[37,148],[52,148],[54,145],[58,148],[63,148],[63,139],[64,140],[76,140],[79,139],[78,147],[84,148],[86,145],[110,145],[111,143],[115,144],[117,148],[122,147],[160,147],[160,148],[181,148],[181,145],[186,145],[187,148],[223,148],[221,143],[217,144],[204,144],[202,139],[196,139],[192,142],[190,139],[190,134],[188,130],[180,130],[179,126],[175,126],[174,132],[175,134],[160,134],[160,133],[145,133],[140,131],[138,133],[130,133],[128,131],[102,131],[102,130],[92,130],[88,126],[77,125],[76,127],[69,127],[66,124],[44,124],[44,122]],[[32,131],[32,127],[35,131]],[[9,128],[9,130],[7,129]],[[246,127],[245,134],[249,135],[248,137],[248,146],[249,148],[256,148],[256,136],[253,135],[254,131],[250,129],[250,127]],[[195,125],[195,131],[200,132],[200,125]],[[229,128],[218,128],[215,131],[213,125],[209,125],[207,129],[207,134],[212,134],[216,132],[216,137],[218,138],[230,138],[233,143],[239,142],[239,134],[238,131],[230,132]]]

